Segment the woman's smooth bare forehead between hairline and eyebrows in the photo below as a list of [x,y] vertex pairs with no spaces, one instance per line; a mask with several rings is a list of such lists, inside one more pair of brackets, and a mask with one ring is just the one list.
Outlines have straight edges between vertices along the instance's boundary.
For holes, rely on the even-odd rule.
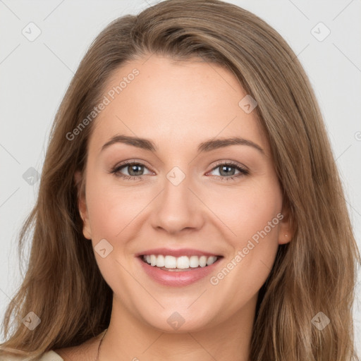
[[127,134],[174,149],[212,137],[241,136],[267,152],[255,112],[247,114],[240,106],[246,96],[237,78],[215,63],[155,54],[130,61],[104,86],[107,104],[94,121],[90,144],[99,149],[110,137]]

